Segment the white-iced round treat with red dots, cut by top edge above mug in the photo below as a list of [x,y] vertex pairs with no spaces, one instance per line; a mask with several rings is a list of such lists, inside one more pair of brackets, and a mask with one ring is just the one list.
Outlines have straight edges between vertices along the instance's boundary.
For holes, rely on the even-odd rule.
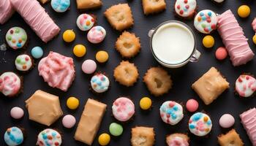
[[194,17],[197,8],[196,0],[176,0],[174,9],[178,17],[191,19]]

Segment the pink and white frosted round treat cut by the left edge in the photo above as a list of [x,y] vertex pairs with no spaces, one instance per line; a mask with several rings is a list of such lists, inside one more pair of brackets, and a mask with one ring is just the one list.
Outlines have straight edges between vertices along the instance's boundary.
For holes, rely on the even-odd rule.
[[13,72],[4,72],[0,76],[0,92],[4,96],[15,96],[21,87],[20,77]]

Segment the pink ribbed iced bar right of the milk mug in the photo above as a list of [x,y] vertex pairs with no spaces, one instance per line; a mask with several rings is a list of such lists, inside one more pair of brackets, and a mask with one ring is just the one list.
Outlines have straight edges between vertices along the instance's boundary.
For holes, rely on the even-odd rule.
[[255,55],[248,45],[243,29],[230,10],[218,15],[218,31],[233,66],[246,64]]

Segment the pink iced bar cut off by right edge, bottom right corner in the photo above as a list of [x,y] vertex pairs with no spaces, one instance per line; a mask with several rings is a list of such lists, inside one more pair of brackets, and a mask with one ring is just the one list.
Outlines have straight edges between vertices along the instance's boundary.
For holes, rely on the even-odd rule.
[[252,145],[256,145],[256,108],[247,110],[240,115],[243,124]]

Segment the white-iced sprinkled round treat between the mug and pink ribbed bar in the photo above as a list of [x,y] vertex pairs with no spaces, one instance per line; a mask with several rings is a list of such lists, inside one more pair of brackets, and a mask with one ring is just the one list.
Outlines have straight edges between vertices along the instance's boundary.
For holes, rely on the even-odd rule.
[[210,9],[204,9],[197,13],[194,20],[194,26],[197,31],[203,34],[210,34],[217,29],[218,18],[215,12]]

